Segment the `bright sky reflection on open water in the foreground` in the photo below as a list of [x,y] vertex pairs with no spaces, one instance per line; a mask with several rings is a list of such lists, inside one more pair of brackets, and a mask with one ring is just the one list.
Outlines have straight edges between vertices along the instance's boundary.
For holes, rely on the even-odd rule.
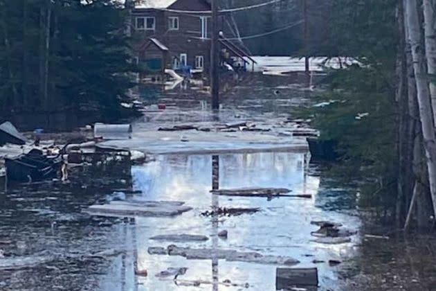
[[[143,200],[177,200],[194,208],[177,218],[138,218],[136,225],[137,261],[149,272],[147,279],[138,279],[138,290],[190,290],[176,286],[172,280],[159,280],[154,275],[167,267],[188,267],[179,277],[184,281],[208,281],[212,290],[221,290],[219,283],[229,279],[249,283],[252,290],[274,290],[275,266],[219,261],[186,260],[176,256],[152,256],[150,246],[167,247],[170,242],[156,243],[150,237],[161,234],[192,233],[210,237],[204,243],[178,243],[185,247],[235,249],[293,256],[301,267],[313,267],[313,258],[337,258],[350,254],[350,244],[326,247],[311,243],[311,220],[335,220],[356,229],[358,220],[346,214],[324,211],[316,206],[320,179],[311,175],[305,153],[256,153],[238,155],[162,155],[156,161],[132,169],[134,188],[143,191]],[[219,197],[211,188],[284,187],[294,194],[313,195],[311,200],[280,198]],[[253,207],[261,211],[254,215],[230,218],[206,218],[201,212],[221,207]],[[221,240],[219,230],[228,230],[228,239]],[[132,255],[133,256],[133,255]],[[133,263],[133,262],[132,262]],[[134,267],[129,267],[131,270]],[[336,280],[334,269],[318,265],[320,281]],[[131,284],[134,284],[133,279]],[[206,285],[203,285],[203,288]],[[131,286],[133,288],[133,286]],[[226,290],[237,290],[229,287]],[[107,289],[108,290],[108,289]]]

